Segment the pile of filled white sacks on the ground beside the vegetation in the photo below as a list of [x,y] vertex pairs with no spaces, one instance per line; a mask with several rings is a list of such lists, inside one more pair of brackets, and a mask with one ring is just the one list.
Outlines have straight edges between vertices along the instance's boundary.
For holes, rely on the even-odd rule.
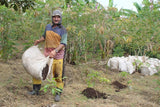
[[111,70],[128,72],[133,74],[140,70],[142,75],[153,75],[160,71],[160,60],[147,56],[113,57],[108,60]]

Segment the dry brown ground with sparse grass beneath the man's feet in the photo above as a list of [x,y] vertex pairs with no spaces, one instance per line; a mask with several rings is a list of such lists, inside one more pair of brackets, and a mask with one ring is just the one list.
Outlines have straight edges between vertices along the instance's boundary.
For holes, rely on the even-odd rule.
[[[50,91],[28,95],[32,77],[25,71],[21,59],[4,63],[0,60],[0,107],[159,107],[159,75],[142,76],[136,72],[122,77],[106,67],[107,61],[91,61],[79,65],[66,64],[65,87],[61,101],[55,102]],[[89,88],[86,79],[91,71],[98,71],[110,82],[94,82]],[[43,81],[42,87],[47,84]],[[86,91],[87,97],[83,94]],[[101,96],[94,96],[95,93]]]

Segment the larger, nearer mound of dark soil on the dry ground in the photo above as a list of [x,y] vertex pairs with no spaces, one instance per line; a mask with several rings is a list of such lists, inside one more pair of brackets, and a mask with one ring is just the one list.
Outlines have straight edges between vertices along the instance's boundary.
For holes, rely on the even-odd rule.
[[100,93],[93,88],[86,88],[82,91],[82,94],[85,95],[87,98],[103,98],[107,99],[106,93]]

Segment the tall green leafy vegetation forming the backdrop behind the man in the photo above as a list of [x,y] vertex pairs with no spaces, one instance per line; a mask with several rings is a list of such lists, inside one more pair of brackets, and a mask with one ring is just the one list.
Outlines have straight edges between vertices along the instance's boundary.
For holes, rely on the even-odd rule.
[[[17,0],[18,1],[18,0]],[[12,7],[15,1],[7,2]],[[113,7],[110,0],[104,9],[95,0],[33,1],[25,11],[16,12],[0,6],[0,56],[10,59],[33,45],[51,23],[52,10],[63,11],[63,25],[68,31],[67,62],[87,62],[112,56],[147,55],[160,58],[160,2],[143,1],[144,7],[134,3],[137,12]],[[17,2],[18,3],[18,2]],[[26,1],[26,4],[30,3]],[[89,5],[86,5],[89,4]],[[16,4],[15,4],[16,5]],[[78,5],[78,6],[77,6]],[[153,8],[150,8],[153,5]],[[21,5],[21,9],[23,7]],[[120,17],[126,15],[126,18]],[[20,42],[21,41],[21,42]],[[22,45],[24,50],[15,47]],[[21,51],[21,52],[20,52]]]

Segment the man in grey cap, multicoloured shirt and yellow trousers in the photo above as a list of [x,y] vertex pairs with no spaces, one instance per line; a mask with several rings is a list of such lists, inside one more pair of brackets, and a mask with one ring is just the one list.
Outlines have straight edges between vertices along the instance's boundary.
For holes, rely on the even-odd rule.
[[[62,26],[62,14],[59,10],[53,11],[52,24],[48,24],[45,28],[43,36],[34,42],[34,45],[45,41],[44,55],[54,58],[53,60],[53,77],[56,80],[56,87],[63,90],[63,59],[65,55],[65,47],[67,45],[67,32]],[[41,88],[41,80],[33,78],[33,91],[31,95],[38,95]],[[60,100],[61,92],[56,92],[55,101]]]

